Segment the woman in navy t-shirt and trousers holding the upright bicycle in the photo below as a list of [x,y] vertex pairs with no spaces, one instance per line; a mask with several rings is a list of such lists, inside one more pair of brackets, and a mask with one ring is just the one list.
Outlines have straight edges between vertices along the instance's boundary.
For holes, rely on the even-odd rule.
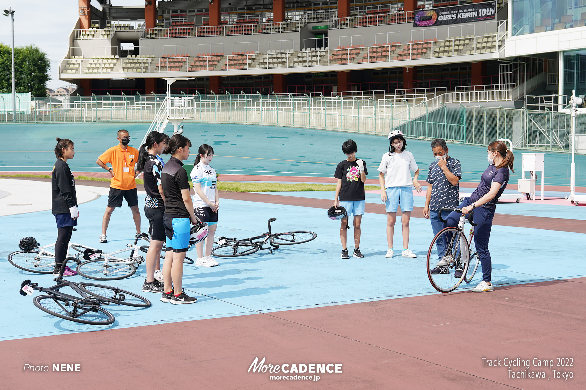
[[[495,141],[490,143],[488,145],[489,166],[482,173],[478,188],[458,206],[458,208],[462,208],[463,214],[468,214],[471,210],[474,210],[473,221],[478,224],[474,228],[474,243],[476,244],[478,258],[482,264],[482,282],[473,288],[472,292],[493,290],[490,282],[492,259],[490,259],[490,252],[488,251],[488,240],[490,238],[490,229],[492,228],[492,218],[495,216],[496,203],[509,182],[509,169],[515,172],[513,170],[514,160],[513,152],[507,149],[505,142]],[[462,214],[449,214],[444,227],[458,226],[460,215]],[[446,266],[446,263],[443,262],[443,259],[440,259],[437,265],[440,267]]]

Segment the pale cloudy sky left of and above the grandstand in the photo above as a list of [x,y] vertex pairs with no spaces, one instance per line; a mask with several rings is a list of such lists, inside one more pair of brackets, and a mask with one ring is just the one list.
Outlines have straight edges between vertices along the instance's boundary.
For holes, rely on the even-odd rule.
[[[92,5],[99,8],[98,3]],[[112,5],[142,5],[144,0],[112,0]],[[47,87],[56,89],[69,84],[59,80],[57,66],[67,51],[67,37],[77,22],[77,0],[0,0],[0,42],[10,46],[12,31],[10,18],[2,10],[12,8],[14,13],[14,45],[35,45],[51,60]]]

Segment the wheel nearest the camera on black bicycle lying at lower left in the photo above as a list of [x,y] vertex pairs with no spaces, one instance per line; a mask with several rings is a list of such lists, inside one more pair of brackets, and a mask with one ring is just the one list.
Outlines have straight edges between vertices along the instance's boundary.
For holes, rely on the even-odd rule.
[[54,295],[38,295],[33,299],[36,307],[52,316],[89,325],[110,325],[114,316],[100,306]]

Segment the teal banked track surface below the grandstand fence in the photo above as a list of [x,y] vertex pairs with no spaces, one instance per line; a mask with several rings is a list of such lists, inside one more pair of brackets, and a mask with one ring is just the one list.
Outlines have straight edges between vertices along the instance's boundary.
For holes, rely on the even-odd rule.
[[[4,141],[0,146],[0,171],[45,171],[54,163],[55,137],[70,138],[75,142],[76,157],[71,160],[74,172],[102,172],[96,159],[105,149],[116,145],[116,132],[127,129],[132,137],[131,146],[138,148],[148,129],[147,124],[35,124],[0,125]],[[26,134],[23,142],[22,134]],[[381,156],[389,149],[389,142],[381,136],[349,134],[311,129],[294,129],[277,126],[185,124],[185,133],[197,146],[209,143],[216,158],[212,166],[221,174],[332,176],[338,162],[345,159],[342,142],[348,138],[358,144],[359,158],[369,168],[369,178],[378,177],[377,167]],[[429,164],[434,160],[430,141],[410,139],[408,149],[415,156],[425,179]],[[486,148],[451,144],[449,155],[462,162],[462,180],[478,182],[488,166]],[[576,185],[586,186],[586,160],[576,156]],[[581,164],[582,162],[582,164]],[[570,156],[546,153],[546,184],[570,185]],[[515,151],[516,173],[510,183],[520,177],[521,153]]]

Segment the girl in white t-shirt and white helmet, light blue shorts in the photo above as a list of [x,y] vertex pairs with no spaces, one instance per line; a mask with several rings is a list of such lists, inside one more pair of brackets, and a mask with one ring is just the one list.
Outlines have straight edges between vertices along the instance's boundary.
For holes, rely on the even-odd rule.
[[[403,256],[417,257],[409,249],[409,221],[413,211],[413,190],[421,192],[421,186],[417,182],[419,168],[411,152],[407,152],[407,141],[403,133],[393,130],[389,133],[390,148],[384,153],[379,166],[380,199],[385,204],[387,211],[387,250],[386,258],[393,257],[393,235],[395,221],[397,220],[397,209],[401,207],[401,223],[403,223]],[[411,179],[411,172],[415,172],[414,179]]]

